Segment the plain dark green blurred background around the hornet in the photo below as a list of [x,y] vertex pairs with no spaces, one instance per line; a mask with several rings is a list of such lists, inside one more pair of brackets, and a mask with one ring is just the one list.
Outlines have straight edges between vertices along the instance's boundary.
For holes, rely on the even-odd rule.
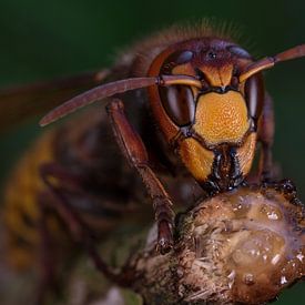
[[[115,53],[152,31],[187,20],[217,18],[241,26],[257,57],[305,42],[299,1],[41,1],[0,0],[0,85],[31,83],[109,67]],[[250,43],[248,43],[250,41]],[[242,40],[243,42],[243,40]],[[305,200],[305,59],[265,73],[275,100],[274,154]],[[1,101],[0,101],[1,102]],[[40,132],[37,124],[0,134],[0,179]],[[276,304],[305,304],[304,284]]]

